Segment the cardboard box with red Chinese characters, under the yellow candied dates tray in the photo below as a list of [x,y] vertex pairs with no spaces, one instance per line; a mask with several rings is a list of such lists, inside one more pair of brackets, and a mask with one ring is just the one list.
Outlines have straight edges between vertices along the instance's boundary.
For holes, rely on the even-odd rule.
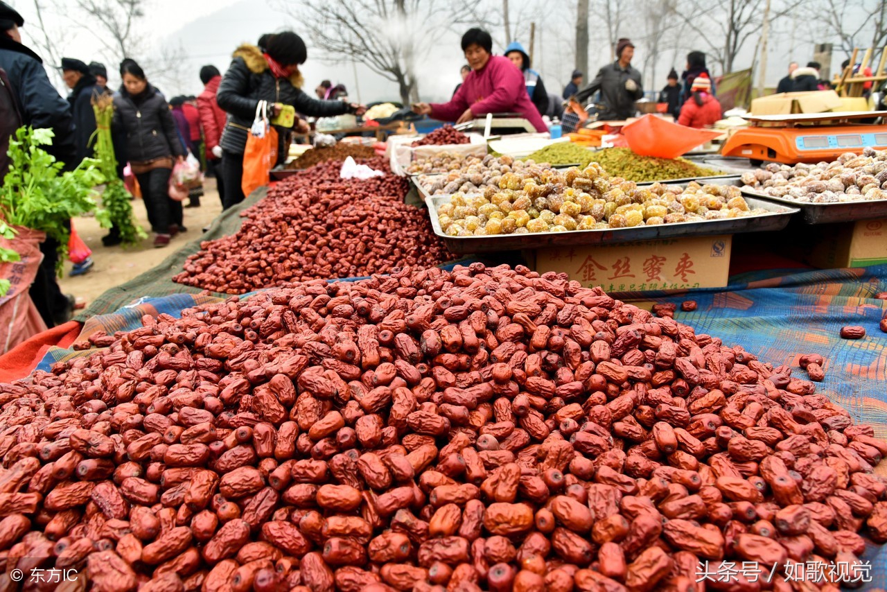
[[607,292],[723,288],[733,237],[692,236],[601,247],[538,249],[539,273],[566,272],[583,286]]

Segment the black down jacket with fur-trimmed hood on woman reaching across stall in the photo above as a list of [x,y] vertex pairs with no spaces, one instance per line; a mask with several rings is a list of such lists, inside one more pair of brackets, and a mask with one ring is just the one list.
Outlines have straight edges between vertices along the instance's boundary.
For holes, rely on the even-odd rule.
[[[216,101],[228,114],[219,146],[226,152],[243,154],[247,134],[255,119],[255,107],[260,100],[283,103],[295,107],[297,113],[313,117],[332,117],[349,113],[351,107],[340,100],[312,99],[302,91],[302,75],[296,72],[289,78],[271,74],[262,51],[255,45],[241,45],[234,51],[231,67],[225,72],[216,92]],[[278,128],[279,150],[283,147],[288,128]]]

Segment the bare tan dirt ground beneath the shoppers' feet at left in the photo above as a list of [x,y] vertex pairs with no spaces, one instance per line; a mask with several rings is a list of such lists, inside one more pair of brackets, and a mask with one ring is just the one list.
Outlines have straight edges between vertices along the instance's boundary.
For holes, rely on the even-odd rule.
[[169,246],[162,249],[155,249],[153,246],[153,234],[150,232],[145,202],[142,200],[132,201],[132,209],[136,213],[138,223],[148,233],[148,238],[132,247],[106,247],[102,244],[102,237],[107,234],[107,230],[101,228],[94,217],[75,219],[77,233],[92,249],[92,260],[95,264],[90,272],[72,278],[69,275],[71,262],[67,261],[65,277],[59,279],[62,292],[73,294],[78,303],[89,304],[106,289],[132,280],[139,273],[161,263],[174,250],[180,249],[185,243],[200,236],[201,229],[222,213],[222,204],[216,192],[216,179],[207,178],[203,188],[205,195],[200,198],[200,208],[184,209],[184,225],[188,232],[179,234],[169,242]]

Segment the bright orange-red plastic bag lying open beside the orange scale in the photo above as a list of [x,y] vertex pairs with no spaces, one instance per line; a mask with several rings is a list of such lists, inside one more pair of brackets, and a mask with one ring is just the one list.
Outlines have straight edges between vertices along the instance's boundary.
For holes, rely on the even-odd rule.
[[695,130],[652,114],[624,126],[622,133],[634,154],[657,158],[678,158],[722,134],[720,131]]

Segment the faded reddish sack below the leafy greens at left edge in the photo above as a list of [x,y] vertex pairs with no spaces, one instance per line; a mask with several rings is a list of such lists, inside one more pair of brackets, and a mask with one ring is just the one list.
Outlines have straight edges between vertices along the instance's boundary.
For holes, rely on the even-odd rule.
[[0,247],[19,254],[19,261],[0,263],[0,278],[10,280],[9,291],[0,297],[0,353],[46,330],[46,324],[27,290],[34,283],[43,253],[40,243],[44,233],[17,226],[12,240],[0,236]]

